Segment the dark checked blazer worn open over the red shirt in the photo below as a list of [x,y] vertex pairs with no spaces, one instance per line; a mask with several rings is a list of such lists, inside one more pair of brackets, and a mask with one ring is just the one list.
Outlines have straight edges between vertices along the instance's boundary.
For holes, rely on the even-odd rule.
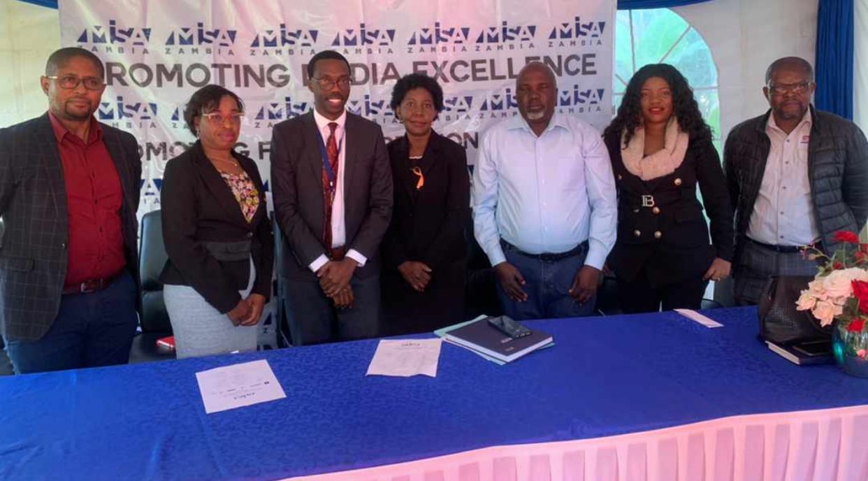
[[[133,135],[101,126],[121,180],[127,268],[138,282],[139,147]],[[48,114],[0,130],[0,215],[0,329],[7,339],[40,339],[60,309],[69,242],[66,183]]]

